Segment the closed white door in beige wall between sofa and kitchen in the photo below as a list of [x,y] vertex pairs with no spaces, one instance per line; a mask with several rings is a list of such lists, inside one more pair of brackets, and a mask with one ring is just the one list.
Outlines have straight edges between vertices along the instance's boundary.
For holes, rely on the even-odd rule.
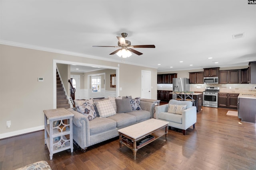
[[141,70],[141,98],[151,99],[151,72]]

